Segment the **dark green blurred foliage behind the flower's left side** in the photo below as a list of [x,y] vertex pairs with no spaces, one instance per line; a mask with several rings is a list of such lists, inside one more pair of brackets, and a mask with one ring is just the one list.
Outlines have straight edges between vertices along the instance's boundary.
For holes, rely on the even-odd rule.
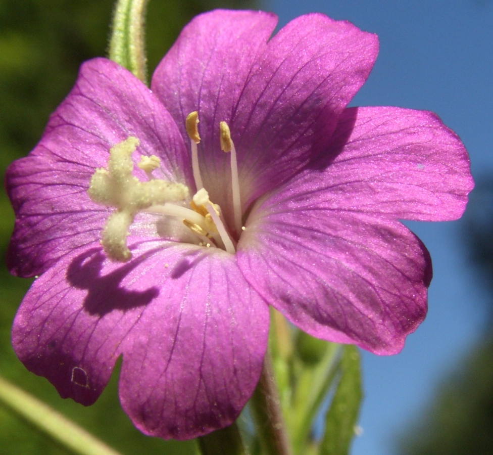
[[[183,25],[217,6],[255,8],[254,2],[152,0],[147,14],[149,73]],[[82,61],[105,56],[111,0],[0,0],[0,169],[27,155],[41,137],[48,116],[71,89]],[[0,193],[0,375],[100,437],[122,453],[196,453],[194,441],[163,441],[143,436],[118,402],[118,369],[101,398],[90,407],[62,400],[44,378],[24,368],[10,343],[10,328],[30,280],[11,277],[5,253],[14,214]],[[0,452],[68,453],[0,407]]]

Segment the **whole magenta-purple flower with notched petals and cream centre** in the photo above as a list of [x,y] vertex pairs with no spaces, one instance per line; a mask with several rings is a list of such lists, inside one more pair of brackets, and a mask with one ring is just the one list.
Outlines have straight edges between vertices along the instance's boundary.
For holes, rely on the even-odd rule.
[[14,321],[17,355],[85,405],[122,355],[122,406],[146,434],[191,438],[238,416],[268,305],[316,337],[399,352],[431,280],[399,219],[456,219],[473,186],[434,114],[347,108],[375,35],[320,14],[270,38],[275,25],[196,17],[152,90],[86,62],[7,172],[9,267],[40,275]]

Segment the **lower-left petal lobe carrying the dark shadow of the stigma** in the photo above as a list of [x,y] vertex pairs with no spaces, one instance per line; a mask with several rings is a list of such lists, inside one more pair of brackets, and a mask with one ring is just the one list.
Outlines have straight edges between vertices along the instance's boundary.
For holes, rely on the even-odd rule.
[[[12,344],[27,369],[44,376],[63,398],[92,404],[106,386],[121,342],[157,294],[120,286],[131,265],[108,263],[97,243],[64,256],[36,279],[19,307]],[[120,305],[120,306],[119,306]]]

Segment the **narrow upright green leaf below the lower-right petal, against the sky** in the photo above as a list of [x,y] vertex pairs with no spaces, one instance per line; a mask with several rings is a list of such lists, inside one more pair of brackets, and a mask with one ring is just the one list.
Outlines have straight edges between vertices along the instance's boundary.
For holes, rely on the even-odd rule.
[[346,455],[353,436],[363,397],[360,355],[353,345],[342,348],[340,380],[325,419],[321,455]]

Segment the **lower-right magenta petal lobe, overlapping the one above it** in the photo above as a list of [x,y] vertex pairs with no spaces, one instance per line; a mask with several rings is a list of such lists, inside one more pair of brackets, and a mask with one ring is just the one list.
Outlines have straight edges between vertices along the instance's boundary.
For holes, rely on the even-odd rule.
[[395,354],[424,319],[431,260],[398,221],[283,211],[272,198],[252,213],[243,241],[245,278],[313,336]]

